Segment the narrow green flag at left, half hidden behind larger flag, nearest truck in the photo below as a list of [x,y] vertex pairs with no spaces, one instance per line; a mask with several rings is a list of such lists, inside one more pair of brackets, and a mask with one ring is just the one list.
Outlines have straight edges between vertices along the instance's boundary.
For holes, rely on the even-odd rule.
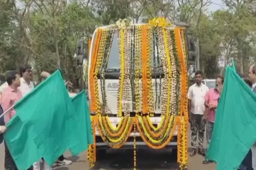
[[93,132],[91,126],[90,113],[88,109],[88,103],[85,96],[85,91],[80,92],[72,99],[72,103],[76,109],[78,118],[78,128],[81,131],[80,144],[70,149],[72,155],[78,155],[88,148],[88,144],[93,143]]

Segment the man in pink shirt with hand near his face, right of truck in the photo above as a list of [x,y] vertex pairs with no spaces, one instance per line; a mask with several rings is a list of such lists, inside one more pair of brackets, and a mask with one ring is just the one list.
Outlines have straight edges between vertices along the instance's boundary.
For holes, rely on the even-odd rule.
[[[218,106],[218,101],[220,98],[220,93],[222,90],[222,86],[224,83],[224,78],[221,75],[217,75],[216,77],[216,86],[215,88],[211,88],[205,95],[205,106],[206,106],[206,138],[207,138],[207,149],[209,147],[209,144],[211,142],[212,138],[212,131],[215,121],[215,113],[216,108]],[[203,161],[203,164],[208,164],[213,161],[205,159]]]

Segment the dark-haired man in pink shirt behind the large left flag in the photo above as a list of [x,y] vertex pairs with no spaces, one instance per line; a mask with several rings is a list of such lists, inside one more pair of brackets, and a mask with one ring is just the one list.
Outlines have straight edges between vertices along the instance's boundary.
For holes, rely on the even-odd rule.
[[[22,98],[21,92],[18,90],[20,86],[20,76],[16,71],[8,71],[6,73],[6,81],[8,83],[7,89],[4,91],[1,97],[1,105],[3,111],[6,111],[12,107],[16,102]],[[4,115],[4,122],[7,124],[10,119],[16,114],[14,108]],[[5,170],[18,170],[16,164],[9,152],[7,145],[5,144],[5,160],[4,160]]]

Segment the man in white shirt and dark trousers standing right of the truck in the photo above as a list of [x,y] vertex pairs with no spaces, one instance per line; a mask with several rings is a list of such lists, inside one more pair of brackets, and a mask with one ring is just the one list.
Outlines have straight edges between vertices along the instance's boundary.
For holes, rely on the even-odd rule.
[[204,129],[206,124],[205,119],[205,95],[209,88],[202,83],[202,72],[196,71],[196,83],[189,87],[188,90],[188,106],[189,106],[189,119],[191,129],[191,146],[192,152],[190,156],[196,154],[197,135],[198,135],[198,153],[205,156],[203,149]]

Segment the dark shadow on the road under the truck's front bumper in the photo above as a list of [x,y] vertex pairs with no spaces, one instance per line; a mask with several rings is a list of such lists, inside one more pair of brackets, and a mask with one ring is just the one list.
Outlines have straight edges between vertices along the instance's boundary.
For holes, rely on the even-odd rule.
[[[110,149],[100,159],[97,159],[94,170],[133,169],[133,157],[133,149]],[[175,170],[179,166],[177,155],[173,155],[171,149],[139,149],[137,167],[143,170]]]

